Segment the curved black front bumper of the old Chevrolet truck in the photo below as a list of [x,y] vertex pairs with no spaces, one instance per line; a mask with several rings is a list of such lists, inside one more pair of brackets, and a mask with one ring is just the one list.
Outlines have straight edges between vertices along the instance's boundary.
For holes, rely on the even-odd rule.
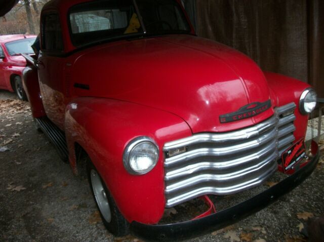
[[319,151],[317,150],[316,155],[299,171],[260,194],[231,208],[204,218],[176,224],[147,225],[134,221],[130,226],[131,234],[146,241],[175,241],[197,237],[224,228],[260,211],[280,196],[293,190],[314,171],[318,158]]

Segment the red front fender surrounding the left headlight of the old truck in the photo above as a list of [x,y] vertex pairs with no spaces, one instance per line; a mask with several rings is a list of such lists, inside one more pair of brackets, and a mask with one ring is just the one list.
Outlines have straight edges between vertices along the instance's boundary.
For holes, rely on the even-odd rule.
[[[157,223],[165,209],[163,145],[191,135],[178,116],[154,108],[104,98],[77,98],[67,105],[65,133],[70,164],[75,142],[89,154],[121,214],[129,221]],[[159,160],[145,175],[131,175],[123,165],[127,144],[148,136],[159,146]]]

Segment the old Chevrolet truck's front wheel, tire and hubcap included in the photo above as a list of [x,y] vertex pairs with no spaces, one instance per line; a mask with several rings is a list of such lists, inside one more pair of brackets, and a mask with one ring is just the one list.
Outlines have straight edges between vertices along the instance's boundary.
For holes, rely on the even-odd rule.
[[108,188],[90,160],[87,162],[87,173],[92,195],[107,230],[115,236],[129,234],[129,223],[119,212]]

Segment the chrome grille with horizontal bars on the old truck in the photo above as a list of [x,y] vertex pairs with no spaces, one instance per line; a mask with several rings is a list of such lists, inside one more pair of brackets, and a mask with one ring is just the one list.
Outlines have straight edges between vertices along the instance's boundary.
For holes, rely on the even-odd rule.
[[[276,108],[275,115],[253,127],[166,143],[166,207],[204,194],[233,194],[266,180],[295,140],[295,108],[295,103]],[[168,157],[168,151],[182,147],[187,152]]]

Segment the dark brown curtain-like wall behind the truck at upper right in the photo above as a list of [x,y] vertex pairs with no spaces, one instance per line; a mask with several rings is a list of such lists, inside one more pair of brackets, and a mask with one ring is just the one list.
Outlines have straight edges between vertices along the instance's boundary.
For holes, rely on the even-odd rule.
[[247,54],[264,70],[308,82],[324,97],[323,0],[187,0],[186,4],[186,9],[196,8],[198,36]]

